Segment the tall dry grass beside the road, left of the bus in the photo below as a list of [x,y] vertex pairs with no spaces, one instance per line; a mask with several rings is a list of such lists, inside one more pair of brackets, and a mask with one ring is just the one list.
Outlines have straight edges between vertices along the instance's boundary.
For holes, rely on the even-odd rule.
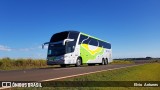
[[43,59],[0,59],[0,70],[20,70],[47,67]]

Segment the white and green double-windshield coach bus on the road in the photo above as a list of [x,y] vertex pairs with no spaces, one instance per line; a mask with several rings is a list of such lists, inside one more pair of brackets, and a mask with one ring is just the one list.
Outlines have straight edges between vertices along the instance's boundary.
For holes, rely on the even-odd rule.
[[47,65],[107,65],[112,62],[111,44],[78,31],[54,34],[48,44]]

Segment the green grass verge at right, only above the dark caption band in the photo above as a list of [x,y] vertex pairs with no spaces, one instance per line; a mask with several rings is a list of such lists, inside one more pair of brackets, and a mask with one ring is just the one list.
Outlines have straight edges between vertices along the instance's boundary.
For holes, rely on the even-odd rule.
[[110,70],[64,79],[65,81],[160,81],[160,63]]

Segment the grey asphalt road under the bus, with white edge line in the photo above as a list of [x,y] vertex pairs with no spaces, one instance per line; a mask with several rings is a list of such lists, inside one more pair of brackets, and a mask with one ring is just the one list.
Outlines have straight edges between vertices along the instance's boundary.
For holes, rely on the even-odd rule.
[[125,68],[136,64],[109,64],[85,67],[67,67],[67,68],[39,68],[29,70],[0,71],[0,81],[51,81],[68,77],[91,74],[101,71]]

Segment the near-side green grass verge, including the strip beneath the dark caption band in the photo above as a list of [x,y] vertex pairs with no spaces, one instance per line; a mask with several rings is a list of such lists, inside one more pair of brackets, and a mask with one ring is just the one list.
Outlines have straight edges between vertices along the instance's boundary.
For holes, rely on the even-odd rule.
[[[160,81],[160,63],[109,70],[59,81]],[[160,90],[160,87],[43,87],[13,90]]]

